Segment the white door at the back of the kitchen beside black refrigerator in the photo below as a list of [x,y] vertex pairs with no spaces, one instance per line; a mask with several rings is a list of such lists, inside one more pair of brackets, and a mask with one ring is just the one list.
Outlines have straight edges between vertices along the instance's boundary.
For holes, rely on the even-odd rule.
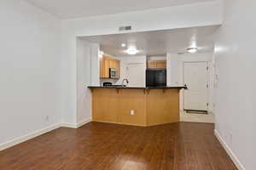
[[127,66],[127,77],[130,87],[145,86],[145,68],[143,64],[130,64]]

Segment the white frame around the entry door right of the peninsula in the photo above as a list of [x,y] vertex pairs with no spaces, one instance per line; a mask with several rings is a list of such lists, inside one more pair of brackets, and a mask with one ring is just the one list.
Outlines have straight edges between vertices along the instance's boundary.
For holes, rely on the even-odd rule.
[[[207,97],[207,111],[210,111],[210,66],[209,66],[209,61],[183,61],[183,65],[182,65],[182,81],[183,84],[185,84],[185,64],[186,63],[206,63],[207,65],[207,84],[208,84],[208,97]],[[188,87],[189,88],[189,87]],[[185,110],[185,92],[183,90],[183,111]]]

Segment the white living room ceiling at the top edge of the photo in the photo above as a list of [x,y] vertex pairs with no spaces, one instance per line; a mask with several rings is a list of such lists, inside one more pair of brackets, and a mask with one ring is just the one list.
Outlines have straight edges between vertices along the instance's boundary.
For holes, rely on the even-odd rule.
[[62,19],[118,14],[149,8],[164,8],[187,3],[202,3],[213,0],[26,0]]

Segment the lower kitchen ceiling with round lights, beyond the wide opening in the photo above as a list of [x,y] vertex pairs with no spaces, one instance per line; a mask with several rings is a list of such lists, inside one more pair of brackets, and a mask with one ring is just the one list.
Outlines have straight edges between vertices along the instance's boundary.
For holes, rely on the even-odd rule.
[[203,26],[166,31],[145,31],[126,34],[82,37],[90,43],[99,43],[101,50],[113,56],[125,56],[127,46],[136,46],[138,54],[160,56],[166,53],[181,53],[185,49],[196,45],[198,53],[212,53],[214,47],[214,33],[218,26]]

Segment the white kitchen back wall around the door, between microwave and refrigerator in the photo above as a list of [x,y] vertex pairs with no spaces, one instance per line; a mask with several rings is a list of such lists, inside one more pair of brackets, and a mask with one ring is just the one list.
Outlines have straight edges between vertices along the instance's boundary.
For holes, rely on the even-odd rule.
[[[120,60],[120,79],[116,84],[122,84],[124,78],[128,78],[127,66],[132,64],[141,64],[143,66],[143,72],[138,72],[138,74],[143,75],[142,84],[146,87],[146,69],[147,69],[147,56],[146,55],[133,55],[133,56],[124,56],[119,57]],[[129,80],[129,78],[128,78]],[[128,84],[129,86],[129,84]]]

